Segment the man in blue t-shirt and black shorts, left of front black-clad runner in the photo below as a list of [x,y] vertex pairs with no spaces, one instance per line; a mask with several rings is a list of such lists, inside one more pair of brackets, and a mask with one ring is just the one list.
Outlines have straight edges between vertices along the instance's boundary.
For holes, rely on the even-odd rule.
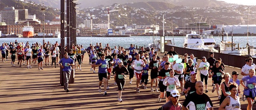
[[105,60],[105,55],[103,54],[101,56],[101,59],[100,60],[97,60],[96,64],[95,64],[95,67],[98,67],[99,66],[99,72],[98,72],[98,77],[99,77],[99,92],[101,92],[101,84],[102,84],[102,80],[104,82],[104,96],[107,95],[107,80],[108,80],[108,71],[107,71],[107,68],[108,68],[108,61]]

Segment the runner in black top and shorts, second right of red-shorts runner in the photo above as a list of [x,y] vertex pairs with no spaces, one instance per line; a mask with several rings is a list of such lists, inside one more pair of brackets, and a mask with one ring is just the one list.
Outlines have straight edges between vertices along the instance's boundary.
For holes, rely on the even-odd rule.
[[153,89],[153,82],[154,80],[156,81],[156,92],[158,92],[157,86],[158,86],[158,67],[159,67],[159,61],[156,60],[156,55],[153,55],[153,60],[149,63],[149,69],[151,70],[150,72],[150,78],[151,78],[151,82],[150,82],[150,90],[151,92],[154,92]]

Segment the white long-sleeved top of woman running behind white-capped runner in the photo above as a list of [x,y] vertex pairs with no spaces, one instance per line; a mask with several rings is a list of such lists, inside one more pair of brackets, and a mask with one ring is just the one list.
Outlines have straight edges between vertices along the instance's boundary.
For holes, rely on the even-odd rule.
[[[176,81],[176,85],[174,84],[174,81]],[[167,83],[169,84],[169,86],[166,85]],[[164,86],[167,86],[166,91],[168,91],[168,92],[172,92],[172,90],[176,89],[177,87],[180,87],[180,81],[175,76],[173,78],[168,76],[167,78],[164,79],[163,84],[164,84]]]

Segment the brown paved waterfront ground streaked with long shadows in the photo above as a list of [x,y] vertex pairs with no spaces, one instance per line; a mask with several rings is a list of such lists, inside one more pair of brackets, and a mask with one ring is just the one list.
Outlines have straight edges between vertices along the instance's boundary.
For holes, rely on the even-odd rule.
[[[90,71],[87,55],[84,60],[82,71],[76,70],[75,83],[69,85],[68,93],[59,86],[59,66],[44,66],[44,70],[38,70],[37,66],[32,66],[32,69],[27,69],[26,66],[11,66],[10,59],[4,63],[0,62],[0,110],[156,110],[165,104],[165,100],[157,102],[159,93],[150,92],[150,84],[148,89],[141,88],[140,93],[136,93],[135,77],[132,84],[127,82],[124,86],[124,102],[119,103],[117,100],[118,88],[114,85],[113,78],[109,82],[108,95],[103,96],[103,92],[98,92],[98,75]],[[239,68],[226,67],[225,72],[231,73],[234,70],[239,73],[241,71]],[[241,79],[242,76],[239,75],[238,78]],[[208,82],[211,84],[211,80]],[[206,94],[210,96],[214,109],[218,109],[216,92],[210,92],[212,86],[209,86],[208,90]],[[180,97],[179,102],[184,102],[184,96]],[[240,102],[242,110],[245,110],[247,101]],[[253,108],[256,109],[256,105],[253,105]]]

